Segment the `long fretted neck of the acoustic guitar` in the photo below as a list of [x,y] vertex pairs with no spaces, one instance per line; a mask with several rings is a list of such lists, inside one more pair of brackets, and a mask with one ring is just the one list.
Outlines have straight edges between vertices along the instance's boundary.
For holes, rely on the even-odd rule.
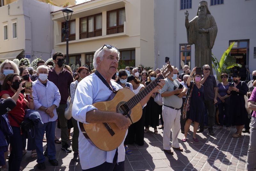
[[130,100],[126,102],[126,104],[129,106],[130,110],[136,106],[140,101],[146,97],[156,86],[157,82],[159,82],[160,79],[164,79],[164,75],[159,75],[155,80],[151,81],[145,89],[142,89],[137,95],[133,96]]

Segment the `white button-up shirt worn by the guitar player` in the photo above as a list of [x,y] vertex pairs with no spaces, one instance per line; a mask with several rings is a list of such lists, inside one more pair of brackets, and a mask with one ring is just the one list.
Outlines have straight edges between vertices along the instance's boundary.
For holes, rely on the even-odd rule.
[[[116,90],[122,89],[122,86],[114,81],[110,81],[112,87]],[[76,88],[72,107],[72,117],[85,124],[86,113],[97,109],[92,104],[100,101],[107,101],[112,91],[100,80],[94,73],[85,77],[79,82]],[[79,125],[78,125],[79,128]],[[127,131],[126,131],[127,134]],[[126,137],[126,135],[125,135]],[[124,138],[125,138],[124,137]],[[81,129],[79,128],[78,150],[82,169],[89,169],[101,165],[104,162],[113,163],[116,149],[113,151],[102,151],[84,137]],[[118,147],[117,163],[124,161],[124,140]]]

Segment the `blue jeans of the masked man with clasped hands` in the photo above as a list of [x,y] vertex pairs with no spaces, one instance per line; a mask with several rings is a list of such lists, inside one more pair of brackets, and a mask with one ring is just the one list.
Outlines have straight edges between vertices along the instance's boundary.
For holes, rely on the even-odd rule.
[[35,128],[37,163],[43,163],[45,161],[45,157],[43,153],[43,141],[42,141],[44,138],[44,131],[47,139],[47,151],[48,151],[47,157],[49,160],[56,159],[56,148],[54,144],[55,123],[56,121],[47,122],[47,123],[44,123],[43,127]]

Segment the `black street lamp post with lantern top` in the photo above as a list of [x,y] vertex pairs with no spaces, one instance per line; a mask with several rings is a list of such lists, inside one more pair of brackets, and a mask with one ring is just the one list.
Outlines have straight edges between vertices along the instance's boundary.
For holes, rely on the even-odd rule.
[[[67,51],[66,51],[66,64],[68,65],[68,61],[69,61],[69,57],[68,57],[68,40],[69,40],[69,28],[68,28],[68,21],[71,19],[71,16],[72,16],[72,13],[74,12],[71,8],[64,8],[61,10],[63,12],[63,16],[64,16],[64,19],[66,21],[66,40],[67,40]],[[65,13],[66,13],[66,16],[65,16]],[[69,16],[69,13],[70,16]]]

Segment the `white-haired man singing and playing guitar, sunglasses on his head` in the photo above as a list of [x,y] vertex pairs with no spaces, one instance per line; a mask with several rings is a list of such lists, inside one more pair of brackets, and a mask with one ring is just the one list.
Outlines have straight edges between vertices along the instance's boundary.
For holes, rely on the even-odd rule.
[[[119,55],[118,49],[109,44],[104,44],[94,53],[93,66],[96,71],[77,85],[72,108],[74,119],[84,124],[112,122],[120,129],[128,129],[130,122],[122,114],[100,111],[92,105],[95,102],[107,101],[113,91],[122,88],[111,80],[118,68]],[[160,81],[154,92],[164,86],[164,80]],[[142,106],[146,104],[153,91],[141,100]],[[102,151],[90,144],[80,130],[78,148],[83,170],[124,171],[124,141],[113,151]]]

